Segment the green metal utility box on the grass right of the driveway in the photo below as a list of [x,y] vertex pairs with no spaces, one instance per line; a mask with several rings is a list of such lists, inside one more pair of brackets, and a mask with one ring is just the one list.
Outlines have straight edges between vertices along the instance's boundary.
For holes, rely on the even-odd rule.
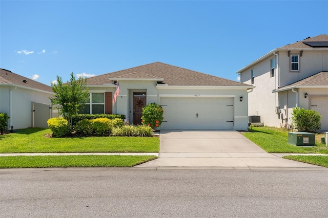
[[288,143],[296,146],[314,146],[316,135],[306,132],[289,132]]

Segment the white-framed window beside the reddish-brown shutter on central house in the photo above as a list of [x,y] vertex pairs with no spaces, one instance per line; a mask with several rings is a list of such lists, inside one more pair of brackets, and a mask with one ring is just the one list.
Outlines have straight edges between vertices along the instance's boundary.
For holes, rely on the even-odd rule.
[[79,114],[105,114],[105,93],[90,93],[90,98]]

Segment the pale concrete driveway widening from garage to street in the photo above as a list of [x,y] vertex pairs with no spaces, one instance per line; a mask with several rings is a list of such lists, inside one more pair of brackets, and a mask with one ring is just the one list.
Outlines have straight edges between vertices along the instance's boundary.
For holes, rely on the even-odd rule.
[[159,139],[159,158],[136,167],[327,169],[269,154],[235,130],[160,130]]

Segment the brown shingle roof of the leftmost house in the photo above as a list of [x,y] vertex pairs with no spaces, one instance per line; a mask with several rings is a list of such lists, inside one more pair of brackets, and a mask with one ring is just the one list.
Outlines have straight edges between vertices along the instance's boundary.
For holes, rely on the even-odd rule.
[[[23,82],[26,81],[26,82]],[[24,76],[20,76],[11,71],[0,68],[0,84],[13,84],[26,86],[32,89],[38,89],[42,91],[52,92],[51,86],[34,81]]]

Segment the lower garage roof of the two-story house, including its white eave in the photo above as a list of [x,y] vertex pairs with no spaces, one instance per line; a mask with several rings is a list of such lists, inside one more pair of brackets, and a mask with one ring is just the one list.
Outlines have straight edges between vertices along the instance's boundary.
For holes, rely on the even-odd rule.
[[282,88],[273,92],[281,92],[295,88],[327,88],[328,89],[328,72],[321,71],[315,75],[306,77],[305,79],[294,82],[290,85],[285,85]]

